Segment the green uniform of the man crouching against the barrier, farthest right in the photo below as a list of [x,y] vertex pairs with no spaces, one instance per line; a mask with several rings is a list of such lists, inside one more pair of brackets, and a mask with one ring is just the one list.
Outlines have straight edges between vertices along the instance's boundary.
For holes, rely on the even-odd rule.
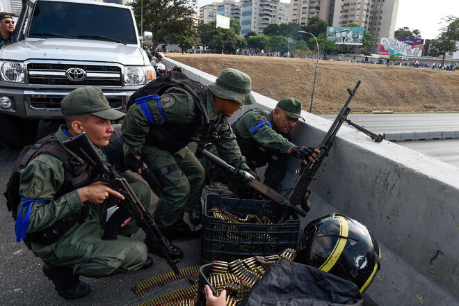
[[293,147],[293,143],[287,139],[287,135],[275,131],[273,111],[266,113],[258,108],[248,111],[237,122],[236,131],[236,140],[248,166],[255,170],[268,163],[264,184],[276,188],[284,179],[289,160],[287,151]]

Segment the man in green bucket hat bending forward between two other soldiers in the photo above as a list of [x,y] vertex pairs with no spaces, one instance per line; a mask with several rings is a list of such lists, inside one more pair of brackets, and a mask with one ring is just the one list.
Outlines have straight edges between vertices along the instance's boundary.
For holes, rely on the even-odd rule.
[[227,117],[244,104],[255,102],[251,84],[247,74],[227,68],[205,89],[204,110],[193,102],[188,91],[175,87],[161,97],[136,99],[136,104],[129,108],[122,122],[125,164],[136,170],[142,156],[159,173],[161,198],[154,218],[165,236],[200,236],[200,228],[191,227],[183,219],[184,212],[189,211],[191,223],[200,223],[200,193],[205,179],[204,169],[186,145],[206,127],[206,117],[210,126],[200,137],[210,140],[212,135],[222,159],[237,168],[249,169]]

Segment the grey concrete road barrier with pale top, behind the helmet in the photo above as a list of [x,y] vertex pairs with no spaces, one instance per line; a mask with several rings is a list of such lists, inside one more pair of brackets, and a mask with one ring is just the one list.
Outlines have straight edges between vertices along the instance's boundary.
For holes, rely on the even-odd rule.
[[[169,58],[163,61],[168,68],[184,67],[202,83],[216,79]],[[342,93],[344,104],[347,93]],[[271,109],[277,103],[254,95],[256,107]],[[306,122],[296,124],[293,143],[318,145],[330,121],[302,115]],[[297,168],[298,161],[291,159],[284,187],[296,184]],[[367,225],[380,243],[381,270],[364,293],[366,305],[459,305],[459,168],[387,140],[374,143],[343,126],[316,177],[302,227],[337,212]]]

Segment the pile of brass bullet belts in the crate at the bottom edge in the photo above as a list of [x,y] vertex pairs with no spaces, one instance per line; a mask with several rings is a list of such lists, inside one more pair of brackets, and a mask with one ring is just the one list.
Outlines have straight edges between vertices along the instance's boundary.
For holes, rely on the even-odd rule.
[[218,294],[224,289],[227,291],[227,306],[236,306],[271,265],[280,259],[292,261],[295,254],[295,250],[288,248],[281,255],[255,256],[230,263],[213,261],[207,280]]

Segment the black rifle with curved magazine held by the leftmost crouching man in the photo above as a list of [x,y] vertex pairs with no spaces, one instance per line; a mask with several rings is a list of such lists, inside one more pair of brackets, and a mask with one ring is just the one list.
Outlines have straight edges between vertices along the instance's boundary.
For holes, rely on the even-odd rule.
[[80,159],[83,159],[83,161],[88,163],[88,165],[97,172],[97,181],[105,182],[108,187],[112,188],[114,191],[118,191],[118,193],[124,196],[124,200],[120,200],[117,203],[119,208],[113,213],[111,218],[108,219],[102,239],[116,239],[118,228],[124,220],[131,216],[150,240],[159,243],[160,248],[162,246],[161,250],[163,252],[163,257],[166,259],[175,275],[180,275],[179,269],[168,256],[168,245],[164,241],[163,234],[161,234],[156,223],[154,223],[153,216],[145,210],[126,179],[120,177],[115,171],[115,168],[112,167],[110,170],[105,166],[102,157],[97,153],[86,133],[83,132],[78,136],[63,141],[63,145],[74,152],[74,154],[77,154]]

